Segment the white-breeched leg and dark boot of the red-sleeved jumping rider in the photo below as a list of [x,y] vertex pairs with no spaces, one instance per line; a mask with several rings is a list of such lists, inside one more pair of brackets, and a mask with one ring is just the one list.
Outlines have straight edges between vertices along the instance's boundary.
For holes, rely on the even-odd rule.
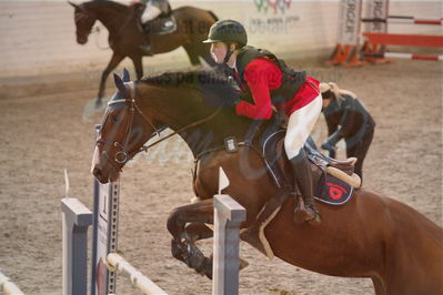
[[[314,205],[312,173],[303,145],[320,116],[322,96],[319,95],[308,105],[293,112],[288,122],[284,149],[293,169],[295,185],[299,186],[305,206],[296,202],[294,221],[320,222],[320,215]],[[296,191],[296,190],[295,190]],[[296,195],[296,193],[294,193]]]

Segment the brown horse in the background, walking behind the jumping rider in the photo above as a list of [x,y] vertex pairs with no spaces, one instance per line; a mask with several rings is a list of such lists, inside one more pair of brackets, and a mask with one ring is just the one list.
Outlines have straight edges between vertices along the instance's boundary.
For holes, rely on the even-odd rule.
[[[104,94],[105,81],[117,65],[129,57],[135,68],[137,78],[143,77],[142,57],[148,53],[140,45],[147,35],[139,28],[138,6],[125,6],[113,1],[89,1],[74,4],[74,21],[77,28],[77,42],[85,44],[92,27],[99,20],[109,31],[109,45],[113,53],[107,68],[101,74],[97,104],[101,104]],[[210,55],[210,45],[202,41],[208,37],[210,27],[218,20],[217,16],[209,10],[194,7],[181,7],[172,10],[177,20],[177,30],[168,34],[154,34],[153,53],[170,52],[183,47],[191,64],[201,64],[202,58],[208,64],[214,65]]]

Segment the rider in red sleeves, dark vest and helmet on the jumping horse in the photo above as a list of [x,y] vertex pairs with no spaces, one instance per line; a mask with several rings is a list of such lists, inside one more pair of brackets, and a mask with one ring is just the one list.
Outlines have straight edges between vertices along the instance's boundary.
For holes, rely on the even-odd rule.
[[[319,81],[305,72],[288,68],[284,61],[266,50],[246,47],[246,31],[238,21],[215,22],[203,42],[211,43],[211,54],[217,63],[233,70],[242,92],[252,95],[254,103],[239,102],[236,114],[269,120],[275,106],[289,115],[284,149],[304,201],[296,202],[294,221],[320,223],[313,199],[311,165],[302,149],[321,113]],[[292,193],[295,196],[299,195],[296,191]]]

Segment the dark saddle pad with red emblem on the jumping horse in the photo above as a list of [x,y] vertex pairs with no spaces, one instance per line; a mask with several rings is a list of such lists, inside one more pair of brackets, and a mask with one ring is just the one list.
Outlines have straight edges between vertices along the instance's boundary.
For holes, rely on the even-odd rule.
[[[281,167],[281,161],[279,161],[282,156],[284,161],[288,161],[282,142],[284,135],[285,130],[279,130],[263,141],[265,166],[278,187],[284,187],[289,182],[283,169]],[[305,150],[308,159],[312,164],[319,163],[319,157],[320,160],[322,157],[321,152],[316,149],[315,143],[311,138],[306,141],[303,149]],[[322,170],[321,166],[319,166],[319,169]],[[292,177],[290,181],[292,181]],[[351,200],[354,187],[341,180],[335,179],[332,175],[326,174],[322,170],[319,181],[316,184],[314,184],[314,192],[315,199],[322,203],[330,205],[343,205]]]

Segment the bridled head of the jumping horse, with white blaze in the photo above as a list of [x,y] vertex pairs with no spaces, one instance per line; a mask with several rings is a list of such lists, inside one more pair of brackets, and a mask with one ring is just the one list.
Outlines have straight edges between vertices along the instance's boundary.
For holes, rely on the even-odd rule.
[[100,125],[91,173],[101,183],[115,181],[124,164],[149,140],[155,128],[137,104],[135,87],[124,70],[123,79],[114,74],[118,91],[108,102]]

